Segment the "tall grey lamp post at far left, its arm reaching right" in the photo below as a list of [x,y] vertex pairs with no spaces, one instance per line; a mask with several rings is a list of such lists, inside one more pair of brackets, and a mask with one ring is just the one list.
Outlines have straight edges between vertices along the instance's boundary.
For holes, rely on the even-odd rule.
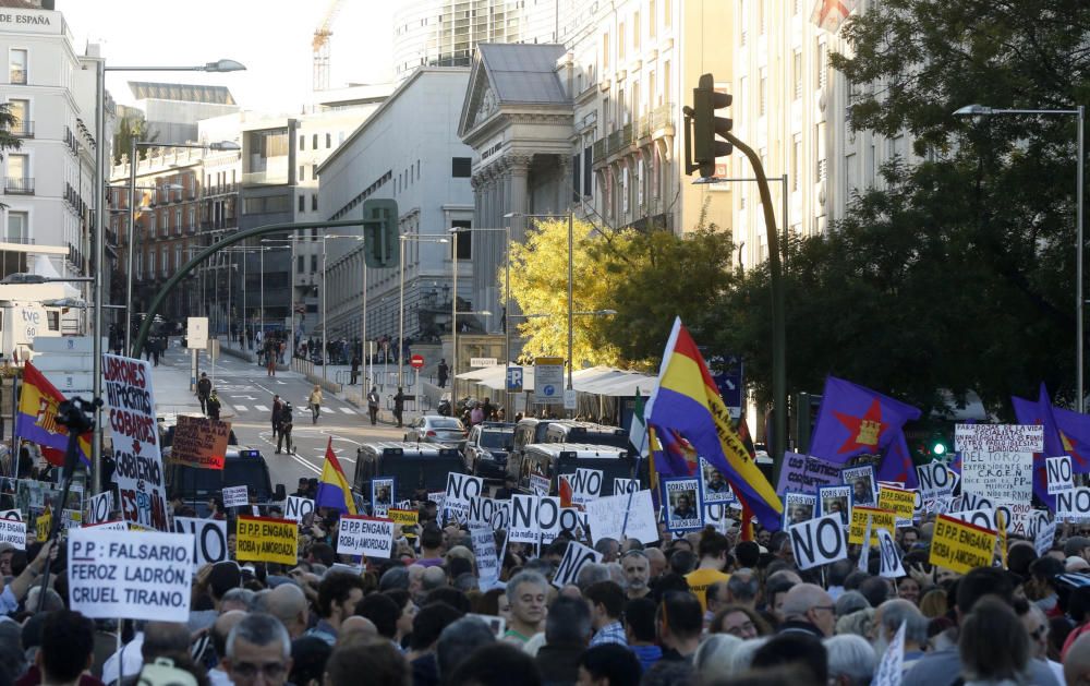
[[[92,326],[92,384],[93,395],[102,397],[102,305],[104,303],[104,269],[106,261],[106,241],[102,232],[106,226],[106,72],[108,71],[204,71],[233,72],[244,70],[241,62],[234,60],[217,60],[195,67],[107,67],[106,60],[95,60],[95,321]],[[129,327],[126,327],[128,329]],[[15,446],[12,446],[13,448]],[[92,438],[92,494],[101,490],[102,468],[102,409],[95,408],[95,431]]]

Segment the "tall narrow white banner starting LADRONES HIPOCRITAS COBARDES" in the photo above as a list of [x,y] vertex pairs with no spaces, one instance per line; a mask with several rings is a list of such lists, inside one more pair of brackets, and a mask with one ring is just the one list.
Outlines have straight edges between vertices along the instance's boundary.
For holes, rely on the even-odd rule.
[[102,381],[121,516],[145,528],[166,531],[167,491],[155,421],[152,365],[104,354]]

